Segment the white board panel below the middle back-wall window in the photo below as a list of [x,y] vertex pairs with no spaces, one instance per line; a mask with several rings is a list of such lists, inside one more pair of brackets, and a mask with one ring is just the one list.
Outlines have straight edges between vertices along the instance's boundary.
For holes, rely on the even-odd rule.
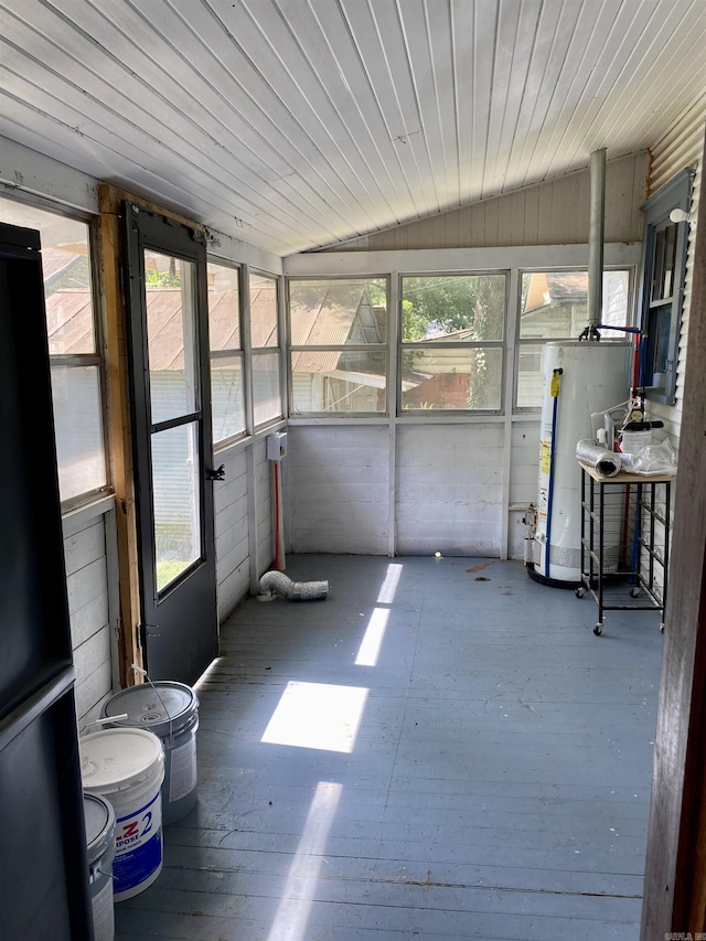
[[397,552],[501,554],[501,425],[413,425],[397,435]]

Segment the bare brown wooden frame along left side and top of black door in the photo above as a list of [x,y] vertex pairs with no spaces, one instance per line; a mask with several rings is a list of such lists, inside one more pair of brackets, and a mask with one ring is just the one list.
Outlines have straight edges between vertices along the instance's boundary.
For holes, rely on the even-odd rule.
[[117,504],[117,541],[120,630],[118,635],[120,685],[141,682],[131,669],[142,666],[138,643],[141,618],[138,566],[137,515],[132,466],[132,428],[130,419],[130,384],[128,374],[128,324],[122,290],[122,203],[127,200],[151,212],[160,213],[193,229],[204,226],[192,220],[148,203],[108,184],[98,189],[99,216],[96,223],[98,258],[98,295],[104,327],[104,355],[108,399],[108,437],[113,481]]

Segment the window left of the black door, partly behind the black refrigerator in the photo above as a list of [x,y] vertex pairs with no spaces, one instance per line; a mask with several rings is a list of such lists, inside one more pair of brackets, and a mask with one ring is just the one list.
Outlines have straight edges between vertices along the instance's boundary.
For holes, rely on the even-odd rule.
[[40,232],[58,488],[73,505],[107,485],[89,226],[2,196],[0,217]]

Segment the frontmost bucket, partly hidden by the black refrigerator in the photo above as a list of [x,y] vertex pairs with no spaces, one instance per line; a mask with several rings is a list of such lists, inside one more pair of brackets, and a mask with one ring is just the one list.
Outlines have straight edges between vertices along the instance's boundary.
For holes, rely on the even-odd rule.
[[84,794],[88,886],[93,913],[94,941],[114,941],[113,859],[115,856],[115,813],[98,794]]

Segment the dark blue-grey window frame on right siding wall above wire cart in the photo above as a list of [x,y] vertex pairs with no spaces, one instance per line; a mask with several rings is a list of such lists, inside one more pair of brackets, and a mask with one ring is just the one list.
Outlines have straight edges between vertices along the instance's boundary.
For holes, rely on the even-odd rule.
[[[638,299],[638,325],[641,333],[641,356],[640,356],[640,382],[644,395],[652,402],[657,402],[662,405],[674,405],[676,402],[676,368],[678,365],[680,353],[680,335],[682,330],[682,314],[684,311],[684,292],[686,287],[686,263],[688,257],[689,242],[689,223],[688,221],[672,223],[670,213],[673,210],[683,210],[688,213],[692,206],[692,192],[694,177],[696,171],[694,168],[687,167],[668,183],[661,186],[654,195],[643,203],[640,208],[644,215],[644,228],[642,240],[642,261],[640,266],[639,278],[639,299]],[[664,370],[664,386],[652,384],[655,375],[654,338],[650,336],[650,312],[656,311],[656,306],[651,303],[651,286],[652,277],[655,269],[655,248],[657,245],[657,235],[663,232],[668,225],[676,226],[676,246],[674,253],[674,271],[673,271],[673,289],[671,301],[664,298],[662,309],[666,309],[668,301],[670,311],[670,329],[667,340],[666,363]],[[655,318],[656,319],[656,318]],[[642,345],[644,344],[644,346]],[[651,357],[651,363],[648,363],[648,357]],[[650,384],[646,384],[646,379]]]

